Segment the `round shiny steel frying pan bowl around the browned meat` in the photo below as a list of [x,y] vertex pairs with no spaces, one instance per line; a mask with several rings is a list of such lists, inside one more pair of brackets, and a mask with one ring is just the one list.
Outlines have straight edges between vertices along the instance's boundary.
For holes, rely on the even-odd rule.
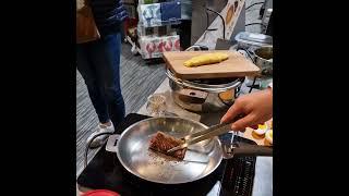
[[200,122],[180,118],[146,119],[121,134],[117,155],[129,172],[151,182],[179,184],[196,181],[212,173],[222,159],[217,137],[190,146],[183,161],[148,150],[148,145],[157,131],[180,138],[204,128],[207,126]]

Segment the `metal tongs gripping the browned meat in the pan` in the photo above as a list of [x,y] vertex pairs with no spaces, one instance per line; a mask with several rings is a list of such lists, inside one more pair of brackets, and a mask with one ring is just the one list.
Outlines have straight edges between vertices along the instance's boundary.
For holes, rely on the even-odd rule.
[[231,128],[230,128],[231,124],[232,123],[217,124],[217,125],[210,126],[207,130],[204,130],[204,131],[201,131],[201,132],[197,132],[197,133],[194,133],[194,134],[186,135],[186,136],[181,138],[182,140],[184,140],[183,144],[167,150],[167,152],[168,154],[169,152],[173,152],[176,150],[186,148],[189,145],[193,145],[193,144],[200,143],[202,140],[212,138],[214,136],[218,136],[218,135],[228,133],[229,131],[231,131]]

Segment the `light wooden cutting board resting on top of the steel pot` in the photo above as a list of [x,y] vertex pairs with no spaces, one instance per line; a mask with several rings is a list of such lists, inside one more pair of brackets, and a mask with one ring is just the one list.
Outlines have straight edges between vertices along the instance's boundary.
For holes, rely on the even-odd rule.
[[[195,68],[184,66],[184,62],[193,57],[225,52],[229,59],[216,64],[207,64]],[[167,66],[173,72],[174,76],[183,79],[194,78],[218,78],[218,77],[243,77],[257,75],[260,69],[237,51],[212,50],[212,51],[172,51],[164,52],[163,56]]]

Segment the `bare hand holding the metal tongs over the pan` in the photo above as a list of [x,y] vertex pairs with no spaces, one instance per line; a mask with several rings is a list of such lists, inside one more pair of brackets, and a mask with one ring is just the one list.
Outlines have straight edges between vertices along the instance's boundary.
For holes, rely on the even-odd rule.
[[233,131],[244,131],[248,126],[255,126],[273,118],[273,89],[252,93],[239,97],[221,118],[220,123],[231,122],[238,115],[242,119],[231,125]]

